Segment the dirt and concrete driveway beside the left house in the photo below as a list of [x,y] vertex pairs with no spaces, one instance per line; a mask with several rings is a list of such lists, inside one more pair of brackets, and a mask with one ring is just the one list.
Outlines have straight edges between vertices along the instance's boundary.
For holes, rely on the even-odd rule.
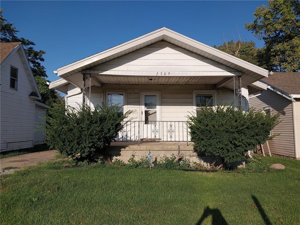
[[4,170],[3,168],[6,167],[25,167],[30,165],[35,165],[37,162],[44,162],[48,161],[50,159],[55,158],[55,154],[57,153],[57,150],[50,150],[50,151],[44,151],[44,152],[34,152],[24,155],[17,155],[7,158],[0,159],[0,173],[12,173],[16,169],[11,170]]

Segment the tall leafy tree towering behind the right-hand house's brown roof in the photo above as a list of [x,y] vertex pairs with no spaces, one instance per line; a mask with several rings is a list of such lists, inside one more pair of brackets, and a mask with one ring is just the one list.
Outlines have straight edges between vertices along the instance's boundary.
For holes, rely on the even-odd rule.
[[265,41],[260,61],[267,70],[300,70],[300,1],[268,1],[257,7],[245,28]]

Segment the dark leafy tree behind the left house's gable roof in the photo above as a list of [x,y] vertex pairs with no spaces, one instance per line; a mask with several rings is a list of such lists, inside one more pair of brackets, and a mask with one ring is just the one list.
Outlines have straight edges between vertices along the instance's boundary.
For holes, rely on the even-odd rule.
[[1,21],[0,21],[0,29],[1,29],[1,42],[21,42],[26,56],[28,58],[32,73],[37,82],[38,88],[40,90],[42,96],[42,102],[45,104],[52,105],[54,102],[58,102],[63,104],[64,99],[53,89],[49,89],[46,82],[49,82],[45,78],[48,77],[46,74],[45,67],[41,64],[45,59],[43,55],[46,53],[43,50],[35,50],[33,46],[35,43],[29,41],[25,38],[19,38],[16,34],[19,32],[16,30],[16,27],[13,26],[13,23],[7,22],[7,20],[2,16],[2,9],[0,9]]

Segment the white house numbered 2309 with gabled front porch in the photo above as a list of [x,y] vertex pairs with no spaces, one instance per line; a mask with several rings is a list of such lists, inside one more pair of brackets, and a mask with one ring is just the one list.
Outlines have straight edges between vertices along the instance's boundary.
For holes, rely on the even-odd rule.
[[[188,142],[187,115],[206,103],[236,100],[247,108],[247,85],[268,77],[268,70],[164,27],[54,73],[60,79],[49,88],[67,94],[67,106],[106,102],[123,105],[120,113],[135,110],[116,138],[122,142]],[[259,90],[252,86],[251,93]]]

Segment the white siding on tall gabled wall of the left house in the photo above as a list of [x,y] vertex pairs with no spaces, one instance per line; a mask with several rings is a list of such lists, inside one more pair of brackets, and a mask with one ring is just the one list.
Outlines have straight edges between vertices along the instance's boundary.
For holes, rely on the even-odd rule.
[[[18,68],[18,90],[10,89],[10,65]],[[1,151],[33,146],[34,99],[18,52],[1,65]]]

